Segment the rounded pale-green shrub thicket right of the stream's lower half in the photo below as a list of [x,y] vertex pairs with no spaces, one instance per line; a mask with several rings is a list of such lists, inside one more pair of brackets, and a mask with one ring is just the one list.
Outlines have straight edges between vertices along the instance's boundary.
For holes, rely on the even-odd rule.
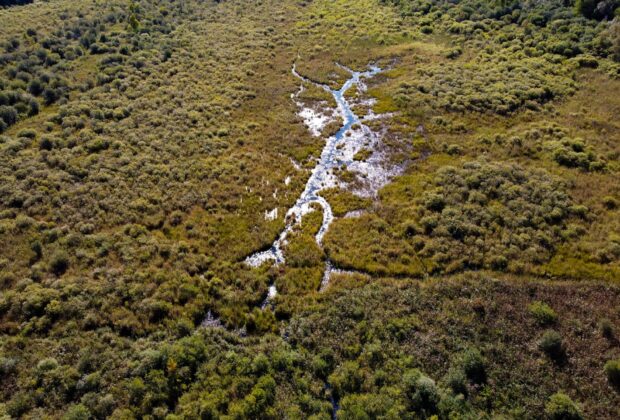
[[561,240],[571,202],[544,172],[472,162],[441,168],[433,184],[420,198],[420,255],[439,266],[505,270],[544,261]]

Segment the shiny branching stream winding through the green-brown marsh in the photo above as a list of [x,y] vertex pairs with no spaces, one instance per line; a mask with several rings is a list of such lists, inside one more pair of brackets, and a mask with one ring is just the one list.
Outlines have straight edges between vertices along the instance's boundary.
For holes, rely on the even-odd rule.
[[[369,131],[369,129],[363,125],[362,119],[355,115],[355,113],[351,109],[351,105],[345,98],[345,93],[354,85],[359,86],[362,79],[373,77],[381,71],[381,69],[376,66],[371,66],[370,70],[365,72],[353,71],[347,67],[340,65],[339,67],[349,72],[351,74],[351,77],[342,85],[340,89],[335,90],[331,89],[327,85],[316,83],[303,77],[302,75],[297,73],[295,65],[293,65],[292,73],[295,77],[299,78],[302,82],[313,84],[332,94],[338,105],[338,110],[340,112],[340,116],[342,117],[343,125],[336,132],[336,134],[330,136],[326,140],[325,146],[323,147],[323,150],[321,152],[319,162],[312,170],[312,173],[310,175],[310,178],[308,179],[308,182],[306,183],[304,191],[297,199],[295,205],[291,207],[286,213],[286,226],[284,230],[280,233],[279,237],[274,241],[274,243],[268,250],[257,252],[246,258],[245,263],[252,267],[258,267],[268,260],[273,260],[276,264],[281,264],[284,262],[282,245],[285,243],[286,237],[288,233],[293,229],[293,227],[299,221],[301,221],[301,218],[305,214],[312,211],[312,204],[316,203],[323,209],[323,222],[319,231],[316,234],[316,241],[319,245],[321,245],[323,236],[325,235],[325,232],[327,232],[329,225],[334,219],[331,206],[329,205],[327,200],[318,195],[318,193],[327,186],[333,185],[334,175],[332,173],[332,170],[334,168],[340,167],[343,164],[351,163],[349,161],[343,161],[337,153],[338,146],[342,142],[346,142],[347,140],[347,136],[345,135],[347,131],[349,131],[351,127],[355,124],[359,124],[364,131]],[[291,98],[295,100],[295,98],[302,91],[303,83],[300,87],[299,92],[291,95]],[[325,267],[325,275],[321,284],[322,288],[326,286],[327,281],[329,280],[329,275],[332,271],[334,271],[334,269],[332,268],[332,264],[330,261],[327,261]],[[276,286],[275,284],[272,284],[269,287],[269,293],[262,307],[265,308],[269,304],[269,302],[275,297],[276,294]]]

